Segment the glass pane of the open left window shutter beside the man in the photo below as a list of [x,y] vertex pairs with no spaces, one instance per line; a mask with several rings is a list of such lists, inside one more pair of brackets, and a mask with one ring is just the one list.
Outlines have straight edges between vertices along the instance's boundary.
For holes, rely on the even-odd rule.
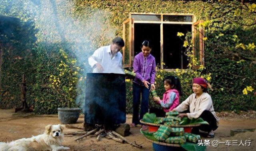
[[130,26],[125,24],[124,65],[130,64]]

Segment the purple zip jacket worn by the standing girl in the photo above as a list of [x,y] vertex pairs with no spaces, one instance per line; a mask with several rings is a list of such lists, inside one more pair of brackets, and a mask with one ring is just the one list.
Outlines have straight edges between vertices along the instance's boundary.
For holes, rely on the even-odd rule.
[[146,80],[150,84],[155,83],[156,76],[156,60],[149,54],[146,58],[142,52],[134,57],[133,70],[136,74],[134,83],[142,85],[142,81]]

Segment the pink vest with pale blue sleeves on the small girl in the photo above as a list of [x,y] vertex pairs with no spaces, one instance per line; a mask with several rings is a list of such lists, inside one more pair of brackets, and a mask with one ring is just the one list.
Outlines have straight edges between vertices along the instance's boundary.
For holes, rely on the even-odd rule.
[[163,99],[158,103],[162,106],[165,112],[169,112],[180,104],[180,94],[176,89],[169,89],[164,92]]

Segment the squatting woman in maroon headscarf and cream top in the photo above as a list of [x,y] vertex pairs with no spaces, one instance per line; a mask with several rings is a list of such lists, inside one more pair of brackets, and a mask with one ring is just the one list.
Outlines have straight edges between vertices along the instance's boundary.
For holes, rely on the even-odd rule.
[[199,118],[201,117],[204,121],[207,121],[209,125],[201,125],[194,127],[192,133],[199,133],[199,129],[208,132],[210,138],[214,137],[214,130],[218,128],[219,118],[217,117],[213,105],[212,98],[207,93],[209,86],[212,89],[210,83],[207,83],[202,77],[193,78],[193,94],[191,94],[185,101],[178,105],[173,111],[184,112],[189,110],[189,113],[179,113],[179,117]]

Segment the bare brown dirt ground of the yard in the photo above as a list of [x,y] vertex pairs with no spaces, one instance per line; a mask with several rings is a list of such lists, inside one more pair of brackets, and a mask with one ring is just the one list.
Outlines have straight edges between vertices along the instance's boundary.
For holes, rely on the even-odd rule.
[[[245,115],[245,116],[244,116]],[[230,137],[230,129],[255,129],[256,128],[256,112],[244,112],[237,115],[236,113],[218,113],[221,117],[220,126],[215,131],[215,138],[210,139],[210,142],[217,140],[221,142],[218,147],[213,147],[212,144],[207,147],[208,151],[215,150],[255,150],[256,151],[256,131],[238,133]],[[247,118],[248,117],[248,118]],[[81,125],[84,121],[84,117],[80,116],[76,124]],[[130,124],[132,121],[131,115],[127,115],[126,123]],[[31,137],[32,135],[38,135],[44,132],[44,127],[48,124],[59,124],[58,115],[21,115],[14,113],[13,109],[0,109],[0,142],[12,141],[24,137]],[[67,131],[79,131],[78,129],[68,129]],[[136,141],[136,143],[143,143],[142,149],[132,147],[129,144],[122,144],[110,139],[102,138],[99,142],[95,137],[87,138],[79,143],[74,141],[75,136],[65,136],[63,145],[70,147],[72,151],[89,151],[89,150],[104,150],[104,151],[153,151],[152,143],[146,141],[143,135],[140,133],[140,127],[131,128],[131,135],[126,137],[130,141]],[[202,138],[207,139],[207,138]],[[250,146],[231,146],[226,145],[226,141],[236,141],[238,144],[240,141],[244,142],[250,140]],[[225,142],[225,143],[223,143]]]

